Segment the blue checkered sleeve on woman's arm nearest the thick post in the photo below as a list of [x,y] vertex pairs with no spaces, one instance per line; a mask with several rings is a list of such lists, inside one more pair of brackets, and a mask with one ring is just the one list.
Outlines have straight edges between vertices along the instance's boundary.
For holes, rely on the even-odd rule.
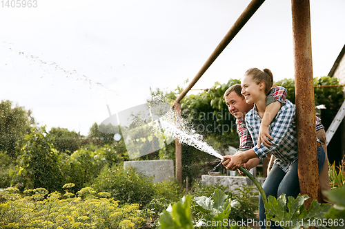
[[278,146],[288,151],[290,147],[295,146],[297,143],[295,138],[293,138],[293,134],[295,133],[291,132],[292,129],[290,128],[291,126],[295,126],[295,106],[290,102],[286,103],[279,110],[276,117],[274,123],[270,124],[270,135],[274,138],[274,140],[270,141],[273,143],[272,146],[268,148],[264,144],[261,144],[260,149],[256,145],[253,147],[253,151],[260,157],[266,157],[268,153],[275,151]]

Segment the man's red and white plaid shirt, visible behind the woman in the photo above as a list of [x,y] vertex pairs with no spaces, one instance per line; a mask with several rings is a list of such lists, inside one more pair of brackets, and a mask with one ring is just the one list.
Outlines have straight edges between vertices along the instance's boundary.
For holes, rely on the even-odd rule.
[[[267,96],[266,101],[268,101],[268,97],[272,96],[272,98],[276,101],[279,101],[282,105],[286,103],[286,95],[287,91],[284,87],[273,87],[270,89],[270,94]],[[269,104],[269,103],[268,103]],[[266,103],[266,105],[268,105]],[[246,128],[244,119],[237,119],[237,133],[239,134],[239,149],[237,151],[247,151],[253,148],[253,140],[248,130]]]

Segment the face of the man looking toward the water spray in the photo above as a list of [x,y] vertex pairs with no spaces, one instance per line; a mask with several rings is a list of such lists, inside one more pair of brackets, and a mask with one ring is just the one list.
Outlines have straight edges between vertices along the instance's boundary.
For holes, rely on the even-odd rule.
[[230,113],[235,116],[236,119],[242,119],[246,116],[246,113],[253,108],[253,103],[248,104],[244,100],[243,96],[238,96],[235,91],[232,91],[225,98],[226,105]]

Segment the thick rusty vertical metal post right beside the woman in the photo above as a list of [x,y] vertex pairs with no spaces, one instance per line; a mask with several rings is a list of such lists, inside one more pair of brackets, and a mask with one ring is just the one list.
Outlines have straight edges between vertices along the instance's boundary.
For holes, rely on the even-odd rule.
[[317,168],[313,61],[311,55],[311,14],[309,0],[292,0],[293,50],[298,142],[298,176],[301,195],[311,201],[319,195]]

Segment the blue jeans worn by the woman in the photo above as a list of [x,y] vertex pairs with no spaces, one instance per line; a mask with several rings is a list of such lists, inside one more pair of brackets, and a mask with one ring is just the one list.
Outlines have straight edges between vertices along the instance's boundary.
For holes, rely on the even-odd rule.
[[[319,173],[324,166],[324,160],[324,149],[322,149],[322,146],[317,146],[317,161],[319,166]],[[264,188],[266,197],[272,195],[277,198],[280,197],[280,195],[282,195],[283,193],[285,193],[286,199],[288,199],[288,197],[297,197],[297,195],[299,194],[297,162],[298,160],[291,164],[286,173],[282,171],[282,168],[279,168],[277,164],[273,164],[273,167],[270,170],[270,173],[268,173],[264,185],[262,186],[262,188]],[[261,221],[259,224],[262,225],[261,228],[266,228],[265,224],[263,223],[263,221],[266,222],[266,215],[264,201],[262,201],[261,194],[259,194],[259,221]],[[275,226],[275,223],[272,221],[270,228],[280,227]]]

